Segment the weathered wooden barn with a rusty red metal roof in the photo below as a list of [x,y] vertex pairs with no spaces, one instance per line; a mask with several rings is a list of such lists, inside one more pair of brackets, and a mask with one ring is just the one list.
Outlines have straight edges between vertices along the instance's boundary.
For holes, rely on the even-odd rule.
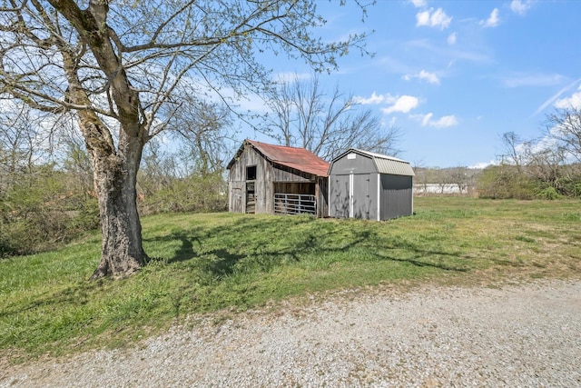
[[231,212],[329,214],[329,163],[304,148],[247,139],[228,170]]

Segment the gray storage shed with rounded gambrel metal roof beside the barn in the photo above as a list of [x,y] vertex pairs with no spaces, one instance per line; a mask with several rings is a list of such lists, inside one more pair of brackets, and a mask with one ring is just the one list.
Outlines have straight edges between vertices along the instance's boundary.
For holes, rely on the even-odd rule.
[[329,167],[329,215],[381,221],[413,214],[413,176],[408,162],[351,148]]

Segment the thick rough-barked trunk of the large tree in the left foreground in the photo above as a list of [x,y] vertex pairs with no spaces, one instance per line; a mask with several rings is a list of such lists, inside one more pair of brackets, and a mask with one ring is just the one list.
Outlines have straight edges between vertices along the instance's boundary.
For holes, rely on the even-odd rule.
[[118,153],[105,157],[93,153],[103,244],[101,262],[91,279],[128,276],[145,264],[135,188],[142,151],[143,145],[133,139]]

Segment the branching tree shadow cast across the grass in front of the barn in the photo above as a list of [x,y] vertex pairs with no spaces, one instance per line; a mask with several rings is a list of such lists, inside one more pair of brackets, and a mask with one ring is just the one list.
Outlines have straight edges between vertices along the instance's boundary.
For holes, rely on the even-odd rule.
[[[358,230],[357,227],[346,228],[340,223],[310,223],[317,221],[295,216],[243,217],[231,224],[211,228],[197,226],[147,242],[171,244],[179,241],[180,247],[164,261],[173,264],[200,259],[199,268],[213,279],[222,279],[237,269],[242,272],[258,269],[269,273],[285,262],[299,262],[306,254],[340,254],[355,247],[368,249],[370,253],[368,251],[367,254],[372,260],[408,263],[447,272],[469,271],[468,265],[453,263],[470,259],[468,255],[431,250],[421,243],[397,238],[385,241],[385,236],[379,236],[371,225],[361,226]],[[293,230],[294,227],[300,229]],[[270,244],[276,239],[282,239],[282,244]],[[289,243],[285,244],[287,240]]]

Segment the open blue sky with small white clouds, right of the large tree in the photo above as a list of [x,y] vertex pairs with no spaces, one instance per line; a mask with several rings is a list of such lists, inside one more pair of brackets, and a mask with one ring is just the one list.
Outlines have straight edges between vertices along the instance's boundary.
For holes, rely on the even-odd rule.
[[[364,22],[352,1],[317,1],[328,21],[318,34],[373,31],[374,54],[340,58],[320,84],[399,127],[399,157],[414,166],[493,164],[502,134],[539,138],[547,114],[581,104],[581,1],[378,0]],[[266,65],[310,75],[284,58]]]

